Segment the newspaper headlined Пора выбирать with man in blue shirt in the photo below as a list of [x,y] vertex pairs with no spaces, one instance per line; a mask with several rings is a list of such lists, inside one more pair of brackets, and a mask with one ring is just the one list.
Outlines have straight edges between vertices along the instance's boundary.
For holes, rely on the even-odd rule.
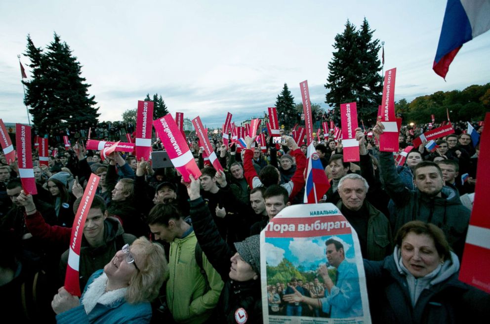
[[284,208],[260,234],[264,323],[371,323],[356,232],[331,203]]

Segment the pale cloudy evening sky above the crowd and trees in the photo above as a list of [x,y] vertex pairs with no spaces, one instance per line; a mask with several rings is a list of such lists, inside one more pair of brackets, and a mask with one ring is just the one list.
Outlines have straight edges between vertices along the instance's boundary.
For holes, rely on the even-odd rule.
[[284,83],[299,103],[303,80],[326,108],[334,37],[347,19],[360,26],[364,17],[385,41],[385,70],[397,68],[396,100],[489,82],[489,32],[463,46],[447,82],[432,71],[445,7],[446,0],[3,0],[0,118],[27,122],[17,55],[28,34],[45,47],[53,32],[82,64],[101,121],[121,120],[158,92],[171,113],[200,115],[210,126],[230,111],[240,122],[274,106]]

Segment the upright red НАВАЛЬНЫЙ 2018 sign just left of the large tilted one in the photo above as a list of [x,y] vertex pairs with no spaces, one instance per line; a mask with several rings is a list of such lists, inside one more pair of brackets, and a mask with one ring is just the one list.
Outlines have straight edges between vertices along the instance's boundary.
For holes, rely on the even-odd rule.
[[148,161],[152,152],[153,101],[138,101],[136,115],[136,160]]

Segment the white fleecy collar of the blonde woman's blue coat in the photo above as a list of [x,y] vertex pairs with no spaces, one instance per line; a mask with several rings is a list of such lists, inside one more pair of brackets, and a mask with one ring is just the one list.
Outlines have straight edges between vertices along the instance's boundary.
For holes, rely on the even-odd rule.
[[106,285],[107,276],[105,273],[90,283],[82,297],[85,313],[90,313],[97,303],[109,306],[124,298],[127,287],[106,292]]

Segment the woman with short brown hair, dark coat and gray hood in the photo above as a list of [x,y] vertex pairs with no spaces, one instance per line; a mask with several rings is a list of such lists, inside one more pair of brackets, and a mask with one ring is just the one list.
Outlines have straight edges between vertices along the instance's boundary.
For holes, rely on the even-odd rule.
[[459,261],[441,229],[411,221],[395,243],[393,255],[383,261],[364,261],[373,323],[482,320],[489,295],[458,281]]

